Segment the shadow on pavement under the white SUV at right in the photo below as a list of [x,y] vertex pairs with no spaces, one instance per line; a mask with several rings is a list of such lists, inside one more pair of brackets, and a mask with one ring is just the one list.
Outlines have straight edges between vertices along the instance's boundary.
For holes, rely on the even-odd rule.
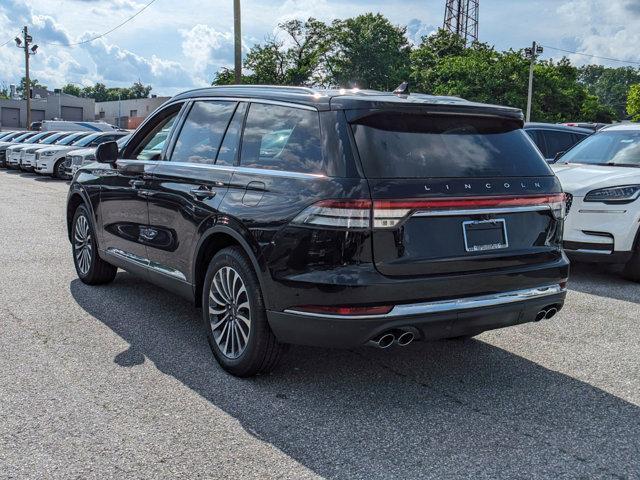
[[599,297],[640,303],[640,284],[623,278],[621,265],[572,261],[569,289]]

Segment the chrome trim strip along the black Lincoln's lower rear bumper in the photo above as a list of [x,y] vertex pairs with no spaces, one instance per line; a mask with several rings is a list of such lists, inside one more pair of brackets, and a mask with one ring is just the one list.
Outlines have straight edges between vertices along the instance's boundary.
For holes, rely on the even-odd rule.
[[511,292],[502,292],[492,295],[480,295],[477,297],[457,298],[451,300],[439,300],[435,302],[412,303],[406,305],[396,305],[389,313],[383,315],[334,315],[327,313],[303,312],[295,309],[287,309],[284,313],[293,313],[296,315],[304,315],[308,317],[333,318],[333,319],[376,319],[376,318],[395,318],[411,315],[428,315],[433,313],[455,312],[458,310],[470,310],[473,308],[494,307],[498,305],[507,305],[510,303],[523,302],[525,300],[535,300],[550,295],[565,292],[566,288],[560,284],[547,285],[543,287],[528,288],[525,290],[514,290]]

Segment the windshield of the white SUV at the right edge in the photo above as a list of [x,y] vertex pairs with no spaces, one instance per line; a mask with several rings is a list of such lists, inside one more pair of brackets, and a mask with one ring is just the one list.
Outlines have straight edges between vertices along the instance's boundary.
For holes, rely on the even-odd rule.
[[640,130],[596,133],[565,153],[560,163],[640,167]]

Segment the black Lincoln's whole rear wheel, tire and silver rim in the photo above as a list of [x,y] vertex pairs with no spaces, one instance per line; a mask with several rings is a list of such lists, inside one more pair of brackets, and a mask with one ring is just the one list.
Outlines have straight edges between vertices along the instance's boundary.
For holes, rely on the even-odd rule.
[[258,277],[239,247],[224,248],[211,260],[202,319],[214,357],[237,377],[270,372],[285,350],[269,327]]

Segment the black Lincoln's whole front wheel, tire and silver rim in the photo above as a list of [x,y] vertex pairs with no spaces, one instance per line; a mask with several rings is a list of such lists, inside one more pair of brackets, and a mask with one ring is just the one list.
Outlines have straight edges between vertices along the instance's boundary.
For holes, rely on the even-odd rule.
[[118,269],[98,255],[95,229],[91,215],[84,205],[80,205],[73,216],[71,245],[73,264],[82,283],[103,285],[113,281]]

